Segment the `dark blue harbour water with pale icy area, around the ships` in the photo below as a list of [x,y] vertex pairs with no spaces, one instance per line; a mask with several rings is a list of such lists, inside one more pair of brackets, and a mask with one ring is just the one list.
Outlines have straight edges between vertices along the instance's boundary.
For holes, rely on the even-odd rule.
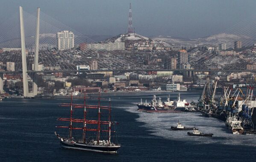
[[[158,95],[159,96],[159,95]],[[167,94],[162,94],[165,101]],[[181,99],[197,102],[200,93],[181,93]],[[108,97],[106,97],[108,98]],[[231,134],[225,123],[199,113],[151,114],[137,111],[136,104],[152,95],[114,96],[112,111],[118,124],[121,148],[117,154],[63,149],[54,131],[57,117],[67,117],[60,108],[68,99],[3,99],[0,102],[1,162],[152,162],[152,161],[254,161],[256,136]],[[177,93],[171,92],[171,99]],[[74,102],[81,103],[82,99]],[[106,102],[107,103],[107,102]],[[104,104],[104,103],[103,103]],[[188,136],[187,131],[170,131],[177,122],[196,126],[213,137]]]

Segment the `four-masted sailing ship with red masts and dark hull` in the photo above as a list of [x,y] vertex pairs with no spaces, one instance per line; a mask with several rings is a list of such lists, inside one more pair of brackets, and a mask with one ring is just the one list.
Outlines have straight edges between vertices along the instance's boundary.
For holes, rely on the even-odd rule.
[[[70,107],[70,118],[58,118],[59,121],[69,122],[68,126],[56,126],[56,128],[68,128],[69,135],[68,137],[60,136],[55,132],[55,135],[60,140],[60,145],[63,148],[78,149],[85,151],[94,151],[94,152],[103,152],[103,153],[117,153],[117,150],[121,147],[119,142],[112,142],[116,137],[117,141],[117,132],[112,128],[113,125],[116,125],[117,122],[111,121],[111,103],[109,99],[109,106],[100,105],[100,93],[98,97],[98,105],[87,105],[86,97],[84,96],[83,104],[73,103],[73,97],[71,95],[70,103],[62,103],[60,106]],[[81,108],[83,109],[83,119],[74,118],[74,109]],[[91,110],[93,113],[97,111],[97,119],[88,119],[88,110]],[[106,121],[101,120],[103,118],[103,111],[107,115]],[[95,116],[95,115],[94,115]],[[81,127],[76,127],[74,124],[80,123]],[[82,131],[82,139],[76,139],[77,137],[73,136],[73,130]],[[105,135],[103,135],[105,134]],[[115,134],[116,136],[113,136]]]

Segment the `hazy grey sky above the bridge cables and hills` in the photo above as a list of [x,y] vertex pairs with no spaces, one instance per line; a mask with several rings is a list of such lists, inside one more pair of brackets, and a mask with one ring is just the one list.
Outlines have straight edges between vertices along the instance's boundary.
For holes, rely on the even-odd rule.
[[206,37],[256,14],[256,0],[0,0],[0,20],[36,8],[85,35],[127,32],[132,25],[144,36]]

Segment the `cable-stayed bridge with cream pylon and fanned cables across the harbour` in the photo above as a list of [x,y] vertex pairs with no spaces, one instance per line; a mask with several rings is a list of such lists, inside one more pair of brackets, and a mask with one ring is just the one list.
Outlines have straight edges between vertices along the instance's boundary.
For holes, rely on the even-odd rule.
[[[255,15],[254,15],[255,16]],[[255,34],[251,24],[252,17],[229,28],[227,33],[248,35]],[[218,58],[219,55],[209,50],[201,50],[203,57],[191,57],[193,68],[190,69],[164,69],[156,65],[141,65],[139,60],[131,59],[121,51],[106,51],[96,49],[80,50],[80,43],[94,43],[93,40],[75,31],[74,29],[60,23],[52,17],[44,14],[38,8],[36,14],[29,14],[20,7],[18,14],[11,17],[0,25],[2,31],[0,36],[0,48],[21,48],[18,52],[7,51],[0,54],[0,63],[15,63],[14,71],[0,71],[0,90],[3,89],[3,73],[22,73],[24,96],[34,96],[37,94],[37,73],[52,72],[104,72],[104,71],[227,71],[227,72],[256,72],[247,70],[246,62],[225,68],[209,68],[207,60]],[[56,33],[59,31],[74,32],[75,47],[71,50],[56,50]],[[251,42],[244,41],[244,46],[249,46]],[[214,43],[213,43],[214,44]],[[217,44],[217,42],[215,43]],[[214,45],[215,45],[214,44]],[[211,45],[209,45],[211,46]],[[152,52],[153,54],[153,52]],[[78,70],[77,65],[88,65],[90,61],[97,61],[98,68],[94,70]],[[177,62],[179,62],[179,57]],[[165,60],[167,62],[167,60]],[[38,70],[38,64],[44,65],[43,71]],[[164,64],[164,63],[163,63]],[[232,64],[232,61],[230,61]],[[28,91],[27,75],[33,74],[33,92]]]

